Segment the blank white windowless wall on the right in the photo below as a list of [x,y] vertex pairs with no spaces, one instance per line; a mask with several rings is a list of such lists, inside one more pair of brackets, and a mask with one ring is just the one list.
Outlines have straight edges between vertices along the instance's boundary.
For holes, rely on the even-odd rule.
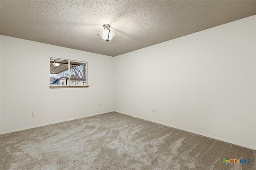
[[256,149],[256,16],[114,61],[116,111]]

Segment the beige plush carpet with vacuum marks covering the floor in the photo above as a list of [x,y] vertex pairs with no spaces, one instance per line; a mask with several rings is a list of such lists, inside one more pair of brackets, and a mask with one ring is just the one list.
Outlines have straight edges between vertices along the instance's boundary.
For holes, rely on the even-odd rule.
[[256,170],[255,150],[116,112],[3,134],[0,142],[1,170]]

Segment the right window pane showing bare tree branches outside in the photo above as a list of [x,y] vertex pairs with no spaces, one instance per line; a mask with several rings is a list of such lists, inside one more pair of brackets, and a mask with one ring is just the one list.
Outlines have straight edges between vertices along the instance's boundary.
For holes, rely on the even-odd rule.
[[70,61],[70,85],[86,85],[86,63]]

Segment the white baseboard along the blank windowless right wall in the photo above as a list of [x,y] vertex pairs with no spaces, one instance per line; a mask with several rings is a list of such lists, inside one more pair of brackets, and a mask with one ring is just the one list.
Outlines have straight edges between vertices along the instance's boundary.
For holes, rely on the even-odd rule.
[[200,133],[200,132],[196,132],[196,131],[193,131],[193,130],[188,130],[188,129],[186,129],[186,128],[176,127],[176,126],[173,126],[173,125],[169,125],[169,124],[162,123],[162,122],[158,122],[158,121],[153,121],[153,120],[151,120],[151,119],[146,119],[146,118],[143,118],[143,117],[138,117],[138,116],[131,115],[131,114],[124,113],[124,112],[120,112],[120,111],[115,111],[115,112],[122,113],[122,114],[124,114],[124,115],[129,115],[129,116],[132,116],[132,117],[136,117],[136,118],[139,118],[139,119],[144,119],[144,120],[146,120],[146,121],[158,123],[158,124],[161,124],[161,125],[166,125],[166,126],[168,126],[168,127],[173,127],[173,128],[177,128],[177,129],[180,129],[180,130],[185,130],[185,131],[187,131],[187,132],[192,132],[192,133],[195,133],[195,134],[200,134],[200,135],[202,135],[202,136],[206,136],[206,137],[209,137],[209,138],[214,138],[214,139],[217,139],[217,140],[222,140],[222,141],[224,141],[224,142],[228,142],[228,143],[231,143],[231,144],[236,144],[236,145],[238,145],[238,146],[243,146],[243,147],[245,147],[245,148],[249,148],[249,149],[256,150],[256,147],[254,147],[254,146],[249,146],[249,145],[241,144],[241,143],[234,142],[234,141],[231,141],[231,140],[226,140],[226,139],[223,139],[223,138],[218,138],[218,137],[216,137],[216,136],[211,136],[211,135],[204,134],[204,133]]

